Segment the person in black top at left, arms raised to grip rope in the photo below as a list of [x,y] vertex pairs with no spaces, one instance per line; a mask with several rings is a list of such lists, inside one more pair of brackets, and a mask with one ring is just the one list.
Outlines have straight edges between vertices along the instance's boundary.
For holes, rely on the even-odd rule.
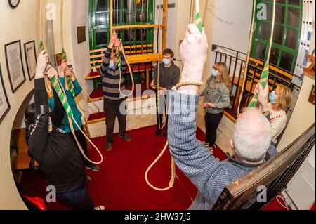
[[73,206],[74,209],[104,210],[104,206],[94,208],[86,191],[86,173],[77,147],[72,138],[60,129],[65,109],[55,91],[55,107],[48,113],[44,70],[47,71],[45,73],[48,79],[57,77],[57,72],[50,65],[46,67],[47,62],[46,51],[41,51],[34,80],[34,104],[25,110],[29,154],[37,160],[46,182],[55,187],[56,196],[62,202]]

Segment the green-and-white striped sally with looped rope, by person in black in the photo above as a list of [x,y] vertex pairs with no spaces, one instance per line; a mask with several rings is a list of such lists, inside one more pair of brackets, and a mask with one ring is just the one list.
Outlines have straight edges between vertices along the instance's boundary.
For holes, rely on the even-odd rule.
[[[44,43],[43,41],[40,41],[39,44],[39,49],[40,51],[44,50]],[[81,152],[81,154],[84,156],[84,158],[86,160],[88,160],[89,162],[93,163],[93,164],[100,164],[103,162],[103,155],[101,154],[100,150],[98,150],[98,147],[96,147],[96,145],[94,145],[91,140],[86,136],[86,134],[84,133],[84,131],[81,129],[81,127],[79,126],[79,124],[77,123],[77,121],[74,119],[74,114],[72,112],[72,109],[67,101],[67,97],[65,94],[65,89],[62,87],[62,85],[60,84],[60,81],[58,79],[56,79],[56,77],[53,77],[50,79],[51,84],[53,85],[53,88],[55,90],[55,92],[58,95],[58,98],[60,100],[60,102],[62,103],[62,107],[64,107],[65,112],[67,113],[67,117],[68,117],[68,121],[70,123],[70,129],[72,130],[72,135],[74,136],[74,139],[79,147],[79,150]],[[50,84],[46,84],[47,86],[50,86]],[[46,88],[47,90],[47,88]],[[72,124],[72,122],[74,122],[74,124],[77,126],[77,128],[81,131],[82,134],[84,134],[84,136],[86,137],[86,139],[88,140],[89,143],[91,143],[91,145],[93,145],[93,147],[96,148],[98,154],[100,154],[100,161],[99,162],[93,162],[91,159],[89,159],[86,154],[84,154],[84,150],[82,149],[79,141],[77,140],[77,137],[74,133],[74,126]]]

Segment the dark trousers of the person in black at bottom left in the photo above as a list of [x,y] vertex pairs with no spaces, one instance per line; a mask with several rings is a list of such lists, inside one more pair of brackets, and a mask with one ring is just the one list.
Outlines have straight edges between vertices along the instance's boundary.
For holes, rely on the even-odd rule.
[[79,187],[76,187],[73,190],[57,192],[56,196],[61,202],[74,207],[74,209],[93,210],[93,202],[90,195],[88,195],[84,184],[85,182],[81,183]]

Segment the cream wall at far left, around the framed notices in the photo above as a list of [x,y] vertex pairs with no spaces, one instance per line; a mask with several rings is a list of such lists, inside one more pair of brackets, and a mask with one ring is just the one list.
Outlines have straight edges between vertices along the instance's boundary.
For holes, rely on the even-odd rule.
[[[25,63],[23,44],[35,40],[39,53],[39,1],[21,1],[15,10],[8,6],[8,1],[0,1],[0,63],[4,86],[8,94],[11,110],[0,124],[0,209],[26,209],[15,187],[10,164],[10,135],[15,118],[23,100],[34,88],[34,81],[29,81]],[[21,40],[22,60],[26,81],[14,94],[11,91],[4,44]]]

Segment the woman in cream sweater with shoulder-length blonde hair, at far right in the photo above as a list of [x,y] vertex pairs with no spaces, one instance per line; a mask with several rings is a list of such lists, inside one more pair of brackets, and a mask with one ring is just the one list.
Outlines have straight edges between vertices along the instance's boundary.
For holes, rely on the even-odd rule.
[[[255,89],[255,94],[258,94],[257,87]],[[275,150],[277,137],[282,133],[287,124],[287,110],[291,107],[293,93],[287,86],[278,84],[277,88],[270,93],[269,98],[270,103],[268,103],[268,110],[270,113],[272,140],[266,159],[270,159],[270,157],[277,154],[277,150]]]

